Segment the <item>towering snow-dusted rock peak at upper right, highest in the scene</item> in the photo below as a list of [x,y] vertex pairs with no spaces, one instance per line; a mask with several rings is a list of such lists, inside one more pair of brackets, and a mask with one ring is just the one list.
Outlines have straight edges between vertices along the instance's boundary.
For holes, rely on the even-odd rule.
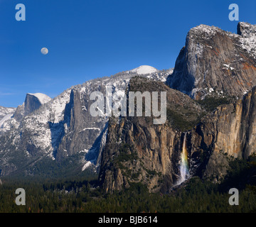
[[169,87],[193,99],[210,92],[238,96],[256,85],[256,26],[238,24],[238,35],[214,26],[197,26],[188,32],[176,60]]

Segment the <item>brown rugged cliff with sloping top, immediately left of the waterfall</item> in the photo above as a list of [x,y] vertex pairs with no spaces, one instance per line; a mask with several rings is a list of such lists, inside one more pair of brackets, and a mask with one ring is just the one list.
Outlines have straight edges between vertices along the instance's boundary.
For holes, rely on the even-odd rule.
[[183,137],[176,129],[181,125],[174,124],[175,116],[179,114],[182,122],[193,124],[204,112],[189,96],[161,82],[134,78],[129,92],[138,91],[157,91],[159,96],[166,92],[167,109],[172,114],[161,125],[147,116],[111,118],[100,167],[100,181],[106,192],[129,187],[132,182],[142,182],[152,192],[168,192],[178,179]]

